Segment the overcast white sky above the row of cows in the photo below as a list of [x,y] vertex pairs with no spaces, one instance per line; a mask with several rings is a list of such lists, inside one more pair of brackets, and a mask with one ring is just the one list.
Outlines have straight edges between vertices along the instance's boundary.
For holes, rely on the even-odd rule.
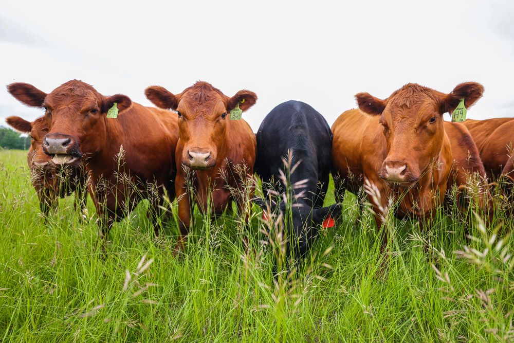
[[[3,0],[2,87],[49,93],[71,79],[144,105],[150,85],[250,89],[259,100],[243,118],[254,131],[290,99],[332,125],[356,93],[386,98],[408,82],[445,93],[480,82],[468,118],[514,116],[514,1]],[[42,114],[0,91],[0,122]]]

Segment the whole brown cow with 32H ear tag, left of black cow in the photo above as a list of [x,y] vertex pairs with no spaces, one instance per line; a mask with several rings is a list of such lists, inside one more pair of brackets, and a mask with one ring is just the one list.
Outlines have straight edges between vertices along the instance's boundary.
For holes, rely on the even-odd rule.
[[[187,179],[192,179],[195,202],[201,212],[207,212],[212,191],[211,212],[220,215],[231,200],[235,200],[239,213],[248,205],[248,199],[235,196],[228,189],[245,194],[246,180],[253,174],[256,141],[250,125],[243,119],[230,120],[229,112],[237,105],[244,112],[257,100],[255,93],[239,91],[232,98],[207,82],[196,82],[182,93],[173,95],[166,88],[146,88],[146,98],[162,109],[178,113],[180,139],[175,154],[177,168],[175,189],[178,199],[181,238],[178,249],[192,225],[191,198]],[[243,171],[241,168],[243,167]]]

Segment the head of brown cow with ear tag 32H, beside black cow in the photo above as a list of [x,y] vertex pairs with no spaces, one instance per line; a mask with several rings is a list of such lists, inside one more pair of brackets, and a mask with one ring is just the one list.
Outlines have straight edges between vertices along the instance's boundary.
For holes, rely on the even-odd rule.
[[[209,169],[219,162],[218,154],[226,148],[229,113],[237,104],[248,110],[257,101],[255,93],[239,91],[229,98],[207,82],[196,82],[180,94],[152,86],[144,94],[161,109],[178,113],[182,164],[193,169]],[[179,158],[177,156],[177,158]]]

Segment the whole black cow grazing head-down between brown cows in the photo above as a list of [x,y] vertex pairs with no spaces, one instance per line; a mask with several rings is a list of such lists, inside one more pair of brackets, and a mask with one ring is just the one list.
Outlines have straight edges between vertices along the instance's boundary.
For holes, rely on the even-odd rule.
[[[318,225],[333,226],[330,214],[337,216],[342,209],[341,204],[322,207],[331,169],[332,131],[325,118],[313,107],[290,100],[271,110],[256,138],[255,172],[262,179],[263,189],[271,188],[279,193],[286,191],[281,170],[289,177],[292,199],[285,202],[281,197],[278,203],[262,198],[253,200],[263,209],[283,213],[282,223],[285,220],[288,240],[293,243],[296,257],[301,258],[317,236]],[[291,160],[288,159],[289,153]],[[288,169],[290,175],[287,175]],[[293,186],[302,184],[302,180],[301,187]],[[286,255],[289,251],[288,248]]]

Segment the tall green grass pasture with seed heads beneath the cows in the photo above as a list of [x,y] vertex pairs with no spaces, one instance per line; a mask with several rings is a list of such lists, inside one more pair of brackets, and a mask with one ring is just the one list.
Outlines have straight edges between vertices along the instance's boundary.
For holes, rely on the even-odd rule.
[[[273,277],[277,240],[269,244],[261,232],[256,206],[250,249],[236,214],[216,222],[197,216],[185,254],[176,257],[176,217],[155,239],[145,201],[113,227],[105,257],[90,198],[85,219],[70,196],[44,220],[26,152],[0,151],[0,340],[514,341],[506,233],[514,220],[497,199],[492,227],[473,221],[471,239],[456,210],[438,213],[426,232],[390,211],[389,269],[381,277],[373,216],[366,208],[357,221],[356,197],[348,194],[340,222],[320,231],[299,272]],[[333,185],[325,200],[332,203]],[[176,202],[169,206],[176,211]]]

